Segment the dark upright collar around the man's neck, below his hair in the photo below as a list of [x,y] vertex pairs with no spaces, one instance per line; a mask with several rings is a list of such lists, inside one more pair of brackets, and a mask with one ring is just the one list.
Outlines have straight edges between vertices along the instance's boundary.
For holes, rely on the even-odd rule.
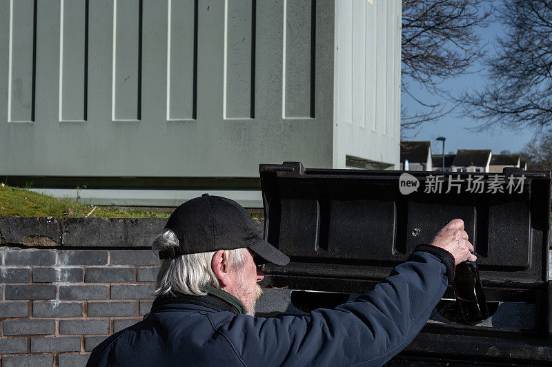
[[239,313],[246,313],[246,308],[239,299],[230,295],[230,293],[221,290],[208,284],[202,288],[207,295],[185,295],[184,293],[177,293],[177,295],[166,295],[157,297],[152,304],[152,312],[155,312],[155,308],[168,304],[193,304],[196,306],[204,306],[216,311],[230,311],[231,313],[238,315]]

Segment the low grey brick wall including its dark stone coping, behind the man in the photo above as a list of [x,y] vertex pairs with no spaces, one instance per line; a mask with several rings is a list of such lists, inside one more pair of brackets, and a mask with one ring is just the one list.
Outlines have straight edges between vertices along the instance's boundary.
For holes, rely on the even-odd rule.
[[159,266],[149,246],[165,223],[0,218],[1,366],[84,366],[140,321]]

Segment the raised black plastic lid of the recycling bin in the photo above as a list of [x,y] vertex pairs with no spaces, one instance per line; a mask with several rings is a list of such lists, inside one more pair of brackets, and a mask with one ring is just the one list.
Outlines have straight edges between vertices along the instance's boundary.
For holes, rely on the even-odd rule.
[[266,264],[272,286],[358,291],[440,228],[464,220],[487,286],[548,280],[551,172],[502,173],[259,165],[264,238],[291,259]]

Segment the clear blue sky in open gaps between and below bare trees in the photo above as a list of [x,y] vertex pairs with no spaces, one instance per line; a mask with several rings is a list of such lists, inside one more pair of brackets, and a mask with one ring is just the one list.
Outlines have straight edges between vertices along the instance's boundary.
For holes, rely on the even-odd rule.
[[[482,36],[482,45],[487,50],[488,55],[492,55],[495,48],[494,39],[501,34],[500,23],[491,23],[489,28],[480,29]],[[464,90],[473,90],[482,88],[486,81],[485,71],[480,63],[471,68],[471,73],[450,79],[442,83],[440,86],[458,95]],[[415,92],[416,97],[421,98],[426,103],[435,103],[438,101],[446,101],[446,99],[431,95],[425,90],[416,88],[415,83],[409,83]],[[401,96],[402,106],[408,109],[408,112],[419,110],[418,105],[412,97],[406,93]],[[450,104],[449,104],[450,106]],[[458,112],[460,112],[458,110]],[[456,152],[458,149],[491,149],[493,154],[498,154],[502,150],[510,150],[517,152],[531,140],[533,136],[532,130],[513,131],[495,128],[493,131],[473,132],[480,121],[470,119],[469,117],[458,116],[457,110],[445,115],[439,121],[424,123],[418,132],[413,136],[414,132],[406,132],[406,140],[428,140],[431,141],[431,151],[433,154],[441,154],[442,142],[436,141],[437,137],[446,137],[445,152]]]

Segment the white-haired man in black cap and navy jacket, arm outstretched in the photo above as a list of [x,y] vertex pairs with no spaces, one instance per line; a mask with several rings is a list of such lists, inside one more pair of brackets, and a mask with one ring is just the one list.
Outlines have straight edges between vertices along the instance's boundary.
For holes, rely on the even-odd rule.
[[88,366],[380,366],[420,332],[455,264],[475,261],[454,219],[355,301],[266,319],[253,317],[257,265],[289,259],[235,201],[187,201],[152,248],[163,261],[151,312],[99,344]]

